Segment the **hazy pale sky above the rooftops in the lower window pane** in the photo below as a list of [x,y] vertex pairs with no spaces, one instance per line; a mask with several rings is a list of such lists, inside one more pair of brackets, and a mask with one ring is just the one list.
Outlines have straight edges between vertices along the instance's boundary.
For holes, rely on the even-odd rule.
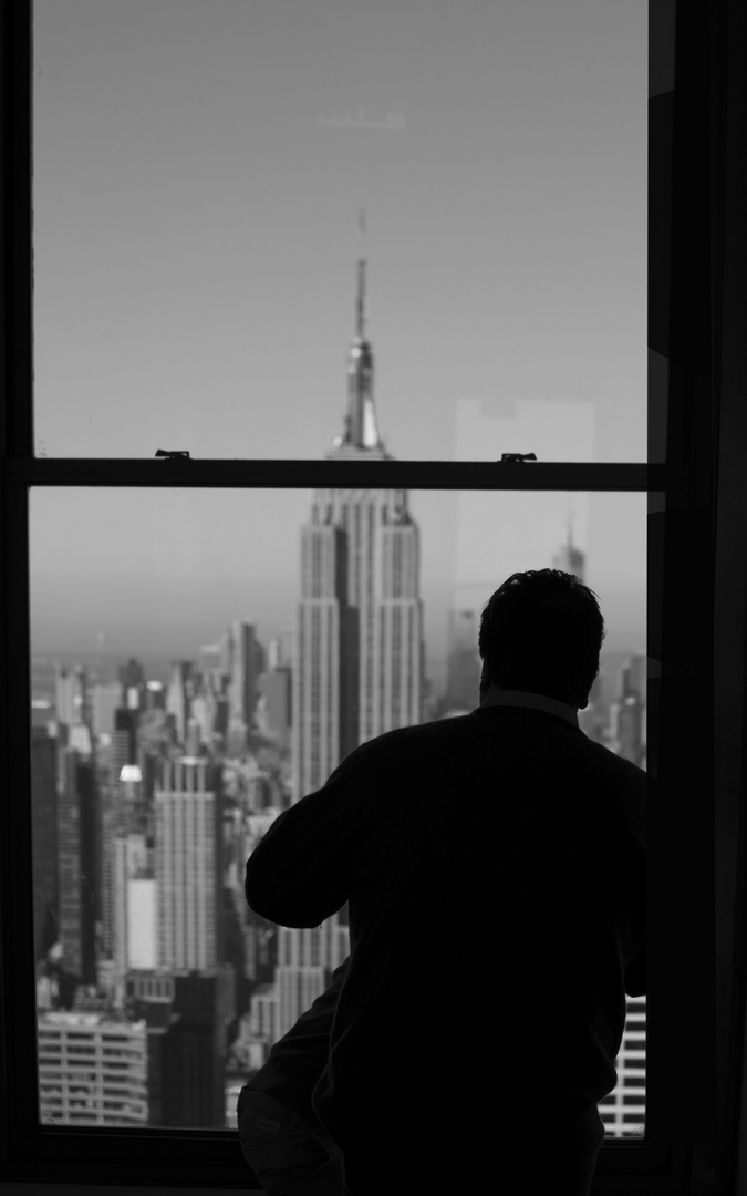
[[[528,404],[504,422],[520,431],[533,414]],[[573,414],[567,434],[578,429]],[[409,500],[424,641],[436,667],[448,652],[449,612],[477,616],[513,573],[552,567],[570,515],[610,647],[645,642],[645,494],[421,490]],[[33,651],[94,658],[103,649],[127,659],[137,646],[163,660],[189,659],[237,618],[269,643],[295,626],[308,502],[305,490],[35,489]],[[104,524],[93,543],[81,535],[91,512]]]

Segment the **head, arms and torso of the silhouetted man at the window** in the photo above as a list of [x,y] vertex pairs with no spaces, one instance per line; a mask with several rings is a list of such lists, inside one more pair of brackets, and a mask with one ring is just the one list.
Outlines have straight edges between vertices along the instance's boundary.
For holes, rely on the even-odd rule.
[[311,1105],[350,1196],[589,1191],[645,991],[647,776],[577,722],[604,636],[577,578],[513,574],[483,611],[479,707],[362,744],[246,865],[281,926],[349,903]]

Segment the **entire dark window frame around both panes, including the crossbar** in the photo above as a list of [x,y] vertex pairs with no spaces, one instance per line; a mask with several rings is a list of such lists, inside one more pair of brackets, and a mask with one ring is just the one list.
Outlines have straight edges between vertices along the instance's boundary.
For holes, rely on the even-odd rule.
[[[0,10],[0,183],[5,183],[0,195],[1,1179],[183,1184],[245,1191],[249,1178],[238,1140],[225,1130],[148,1127],[91,1131],[38,1124],[27,750],[29,487],[398,486],[649,494],[647,742],[649,770],[657,777],[659,789],[649,808],[650,858],[657,867],[649,873],[647,1136],[642,1142],[605,1145],[593,1191],[727,1190],[723,1185],[730,1183],[735,1165],[735,1093],[741,1080],[737,1048],[745,1008],[745,948],[734,946],[733,934],[743,919],[746,848],[742,832],[736,860],[727,834],[741,793],[741,773],[734,763],[736,745],[722,744],[722,756],[714,759],[714,633],[718,635],[716,615],[728,605],[724,596],[729,586],[729,579],[716,568],[714,543],[717,539],[722,548],[734,543],[743,526],[733,499],[729,507],[728,488],[734,477],[728,469],[739,478],[739,464],[729,457],[733,443],[724,435],[725,428],[742,435],[743,417],[739,422],[734,414],[736,395],[731,407],[727,405],[716,377],[728,348],[728,328],[724,331],[718,306],[727,301],[720,263],[728,232],[718,201],[723,200],[722,173],[731,160],[721,138],[729,103],[724,81],[727,49],[731,53],[727,26],[730,23],[733,30],[739,18],[735,0],[698,0],[688,6],[684,0],[650,0],[649,12],[649,464],[589,465],[36,459],[31,0],[16,0]],[[743,32],[743,22],[739,28]],[[739,62],[739,55],[735,59]],[[712,299],[693,307],[688,299],[698,285],[698,293]],[[522,447],[531,451],[532,446]],[[700,566],[694,570],[693,559]],[[716,660],[722,666],[725,654],[722,633],[722,639],[716,639]],[[740,667],[729,681],[743,702],[743,660]],[[691,742],[702,744],[702,750],[685,759],[680,749]],[[721,768],[717,799],[715,767]],[[681,795],[693,780],[704,797],[691,803],[690,820],[685,822],[679,817]],[[22,797],[8,800],[12,794]],[[696,868],[693,861],[698,861]],[[722,925],[715,939],[717,909]],[[685,971],[686,960],[697,964],[691,963]],[[728,1033],[718,1041],[716,1012],[728,1020]],[[696,1043],[693,1023],[702,1031]],[[680,1049],[682,1042],[688,1043],[686,1051]],[[724,1115],[720,1115],[718,1131],[717,1104]],[[135,1145],[137,1161],[133,1163]]]

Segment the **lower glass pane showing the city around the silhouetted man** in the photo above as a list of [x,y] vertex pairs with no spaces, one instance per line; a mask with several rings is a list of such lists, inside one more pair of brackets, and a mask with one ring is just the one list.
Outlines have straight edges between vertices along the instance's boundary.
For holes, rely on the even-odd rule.
[[[302,932],[253,914],[246,859],[357,742],[478,704],[479,611],[512,573],[599,596],[580,726],[645,767],[645,520],[643,494],[33,489],[42,1121],[235,1125],[239,1088],[349,952],[344,910]],[[343,598],[316,597],[335,541]],[[632,1000],[610,1135],[642,1131],[644,1042]]]

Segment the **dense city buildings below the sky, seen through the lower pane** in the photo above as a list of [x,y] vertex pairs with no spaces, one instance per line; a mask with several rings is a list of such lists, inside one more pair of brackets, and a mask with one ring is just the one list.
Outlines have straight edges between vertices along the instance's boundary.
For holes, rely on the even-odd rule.
[[[374,495],[336,495],[341,509],[350,505],[348,529],[359,523],[355,504],[361,514],[367,512],[367,498]],[[317,502],[318,518],[325,512],[324,492]],[[396,511],[402,514],[402,505]],[[307,587],[324,590],[324,570],[314,579],[310,529],[339,531],[341,549],[347,532],[342,523],[314,521],[313,508],[299,529],[311,545]],[[380,537],[386,539],[388,530],[382,519]],[[350,575],[332,569],[343,596],[366,588],[367,559],[376,555],[355,551],[355,536],[349,547]],[[583,556],[569,543],[553,565],[573,566],[584,576]],[[225,1119],[229,1128],[240,1084],[324,991],[330,972],[349,953],[344,909],[318,928],[268,927],[247,913],[240,889],[243,861],[281,810],[298,800],[299,783],[305,791],[324,779],[314,774],[313,750],[311,768],[305,755],[299,768],[298,757],[308,719],[313,724],[314,712],[325,703],[324,694],[314,692],[314,676],[322,678],[335,654],[323,647],[314,655],[313,610],[305,620],[305,604],[313,608],[316,602],[301,592],[299,628],[310,622],[312,630],[312,651],[298,665],[306,684],[294,687],[293,716],[289,707],[276,708],[286,730],[289,722],[294,731],[293,752],[287,739],[283,745],[282,726],[265,718],[273,712],[261,710],[258,701],[259,694],[269,694],[259,670],[282,676],[284,649],[270,645],[265,653],[253,629],[238,622],[218,642],[200,646],[197,671],[186,663],[174,665],[165,691],[147,684],[135,660],[120,670],[108,690],[91,687],[79,671],[56,673],[55,718],[35,719],[32,736],[44,1123],[218,1127]],[[339,614],[344,605],[339,602]],[[362,634],[353,635],[354,642],[363,641],[362,654],[366,605]],[[345,628],[338,618],[341,630]],[[392,701],[397,681],[384,646],[374,636],[371,664],[375,660],[380,672],[374,694],[376,684],[390,678],[381,708],[386,722],[421,721],[418,710],[398,719]],[[390,647],[394,659],[396,637]],[[470,672],[469,661],[461,667],[457,663],[463,676],[465,663]],[[344,671],[332,670],[332,687]],[[363,706],[368,682],[360,661],[359,671]],[[645,768],[645,658],[627,659],[618,681],[611,702],[594,689],[580,726]],[[428,706],[425,720],[437,718]],[[339,713],[342,727],[349,710]],[[317,748],[324,740],[323,722],[308,724]],[[357,737],[350,728],[353,738],[366,738],[365,721],[356,726]],[[339,755],[349,746],[341,742]],[[327,752],[322,771],[335,762]],[[50,883],[55,861],[59,887]],[[645,1115],[645,1000],[629,1000],[627,1013],[618,1084],[600,1103],[605,1131],[612,1136],[643,1133]],[[184,1063],[195,1056],[202,1068],[197,1085],[191,1063]]]

